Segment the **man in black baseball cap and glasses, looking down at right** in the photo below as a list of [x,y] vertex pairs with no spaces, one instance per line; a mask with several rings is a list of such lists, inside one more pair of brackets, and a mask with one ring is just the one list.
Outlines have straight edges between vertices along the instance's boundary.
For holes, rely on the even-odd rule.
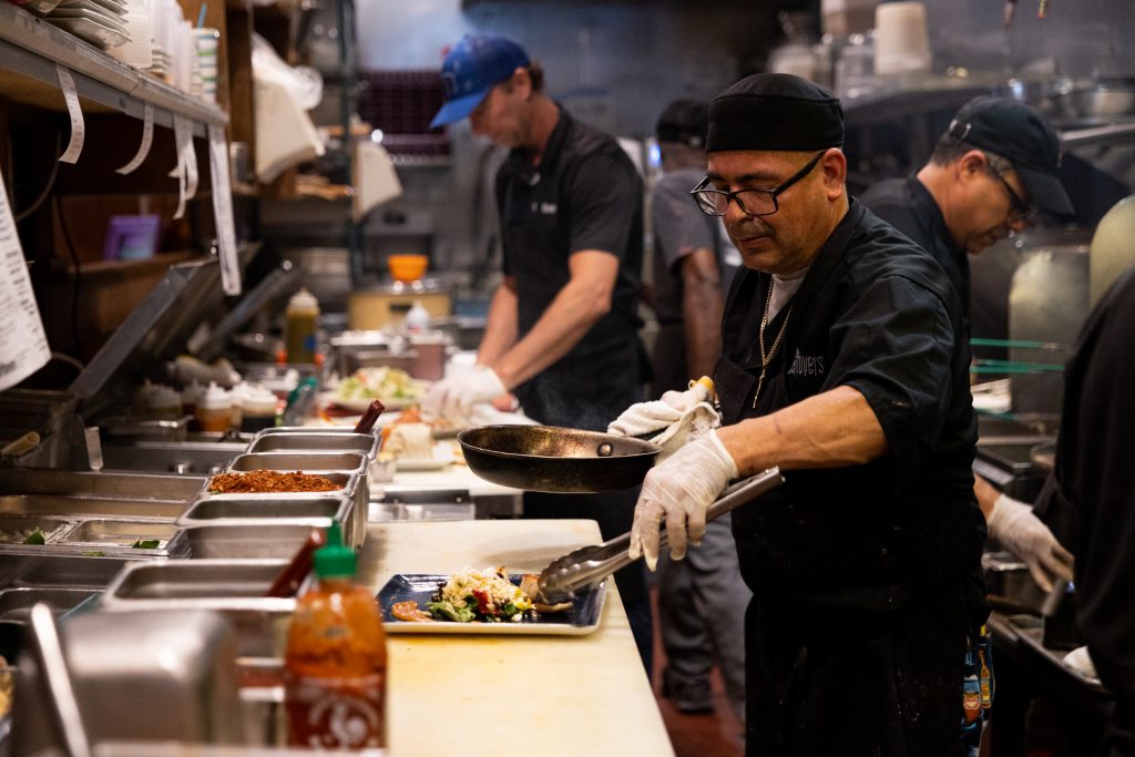
[[[859,200],[942,264],[961,297],[968,339],[967,255],[1024,230],[1041,212],[1075,213],[1058,176],[1060,158],[1060,137],[1040,113],[1012,98],[983,95],[958,110],[915,176],[881,182]],[[1071,580],[1071,554],[1031,505],[981,477],[974,490],[990,536],[1026,562],[1041,589],[1051,590],[1053,578]]]

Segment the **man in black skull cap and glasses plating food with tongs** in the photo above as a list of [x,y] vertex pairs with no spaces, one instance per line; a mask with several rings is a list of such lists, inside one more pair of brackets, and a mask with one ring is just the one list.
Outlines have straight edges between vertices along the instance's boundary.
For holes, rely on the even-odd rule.
[[[961,754],[976,420],[961,303],[941,266],[848,196],[839,100],[758,74],[709,106],[693,199],[745,268],[714,372],[723,426],[647,474],[631,552],[705,531],[731,479],[785,482],[733,512],[749,755]],[[960,387],[960,388],[959,388]]]

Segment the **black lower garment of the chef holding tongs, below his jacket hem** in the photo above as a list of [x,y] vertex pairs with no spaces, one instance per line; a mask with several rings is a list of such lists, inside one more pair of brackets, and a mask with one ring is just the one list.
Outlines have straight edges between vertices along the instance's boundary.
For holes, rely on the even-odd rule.
[[964,754],[968,617],[960,584],[894,612],[754,598],[746,616],[746,754]]

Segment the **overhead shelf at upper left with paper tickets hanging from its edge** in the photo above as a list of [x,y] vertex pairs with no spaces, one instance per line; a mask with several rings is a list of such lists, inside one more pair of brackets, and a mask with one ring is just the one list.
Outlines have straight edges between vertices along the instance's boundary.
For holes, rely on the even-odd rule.
[[150,103],[155,124],[173,128],[174,115],[185,116],[202,137],[208,124],[228,123],[217,106],[126,66],[26,10],[0,5],[0,96],[66,110],[56,64],[70,70],[85,111],[142,118]]

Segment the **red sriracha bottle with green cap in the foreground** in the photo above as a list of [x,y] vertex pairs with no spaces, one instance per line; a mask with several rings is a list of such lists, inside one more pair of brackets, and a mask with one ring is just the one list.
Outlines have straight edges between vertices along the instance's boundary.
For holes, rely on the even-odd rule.
[[316,552],[319,583],[300,597],[288,630],[288,742],[313,749],[386,746],[386,633],[378,603],[358,586],[338,522]]

